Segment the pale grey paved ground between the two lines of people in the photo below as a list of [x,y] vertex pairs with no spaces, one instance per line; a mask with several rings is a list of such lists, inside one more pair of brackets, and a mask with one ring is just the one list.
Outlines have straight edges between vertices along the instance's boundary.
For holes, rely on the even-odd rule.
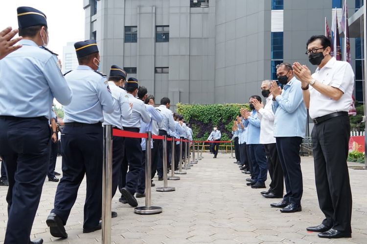
[[[353,193],[353,234],[350,239],[328,240],[305,230],[307,226],[320,224],[313,158],[302,158],[304,192],[302,212],[282,214],[271,208],[278,200],[264,199],[258,189],[245,185],[245,175],[232,163],[229,154],[219,154],[204,159],[181,175],[180,181],[169,181],[176,187],[174,192],[157,192],[152,188],[152,205],[163,207],[159,215],[141,216],[127,204],[118,202],[119,194],[112,206],[118,217],[112,220],[112,242],[114,244],[367,244],[367,187],[366,170],[349,170]],[[57,171],[61,172],[61,158]],[[162,182],[155,179],[156,186]],[[269,180],[266,182],[267,186]],[[53,207],[57,183],[45,182],[43,195],[32,229],[33,238],[43,238],[44,243],[92,244],[101,242],[101,231],[82,233],[85,181],[82,183],[76,203],[66,225],[69,238],[59,240],[49,234],[46,217]],[[0,187],[0,244],[5,235],[7,221],[7,187]],[[144,205],[145,199],[138,199]]]

